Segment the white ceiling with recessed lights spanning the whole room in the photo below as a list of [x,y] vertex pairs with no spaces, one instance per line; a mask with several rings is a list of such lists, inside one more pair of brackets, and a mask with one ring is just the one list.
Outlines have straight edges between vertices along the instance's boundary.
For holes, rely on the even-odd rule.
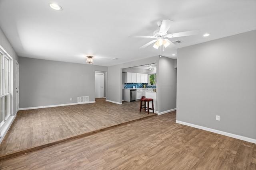
[[[62,6],[52,10],[50,2]],[[111,66],[156,55],[170,58],[176,48],[139,49],[152,39],[160,20],[168,33],[199,29],[176,48],[256,29],[256,0],[0,0],[0,27],[17,55],[36,59]],[[204,33],[209,37],[202,37]],[[118,60],[112,60],[118,58]]]

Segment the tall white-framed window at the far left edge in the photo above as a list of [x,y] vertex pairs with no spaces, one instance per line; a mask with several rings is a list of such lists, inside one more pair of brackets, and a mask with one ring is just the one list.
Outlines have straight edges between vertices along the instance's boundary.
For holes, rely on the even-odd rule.
[[10,59],[0,53],[0,127],[10,116]]

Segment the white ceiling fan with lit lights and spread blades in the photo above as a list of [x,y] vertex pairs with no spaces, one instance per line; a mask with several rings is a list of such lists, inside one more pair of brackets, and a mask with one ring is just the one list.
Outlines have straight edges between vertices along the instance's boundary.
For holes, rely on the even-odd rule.
[[153,35],[134,35],[134,36],[128,36],[128,37],[135,37],[135,38],[154,38],[154,40],[146,43],[145,45],[143,45],[141,48],[145,48],[148,45],[155,43],[153,45],[153,47],[155,49],[158,49],[159,46],[164,45],[164,47],[174,47],[175,44],[172,43],[172,41],[170,41],[167,38],[174,38],[174,37],[184,37],[184,36],[189,36],[189,35],[197,35],[199,33],[199,30],[192,30],[192,31],[184,31],[184,32],[179,32],[179,33],[171,33],[168,34],[168,29],[171,26],[172,21],[171,20],[162,20],[162,21],[158,21],[157,25],[158,25],[158,29],[156,31],[154,31]]

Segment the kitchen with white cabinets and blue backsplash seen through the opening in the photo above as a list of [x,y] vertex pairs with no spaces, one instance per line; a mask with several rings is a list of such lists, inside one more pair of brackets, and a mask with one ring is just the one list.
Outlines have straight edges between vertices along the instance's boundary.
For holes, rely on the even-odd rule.
[[[140,101],[142,96],[154,100],[156,111],[156,64],[124,68],[123,72],[123,98],[125,102]],[[150,107],[152,104],[150,102]],[[138,107],[139,108],[139,107]]]

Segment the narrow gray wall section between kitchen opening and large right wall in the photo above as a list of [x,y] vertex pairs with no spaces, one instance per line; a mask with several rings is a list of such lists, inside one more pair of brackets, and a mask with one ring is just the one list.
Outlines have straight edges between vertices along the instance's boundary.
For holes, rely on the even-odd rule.
[[163,112],[176,108],[177,70],[174,68],[174,59],[167,57],[160,57],[158,65],[158,111]]

